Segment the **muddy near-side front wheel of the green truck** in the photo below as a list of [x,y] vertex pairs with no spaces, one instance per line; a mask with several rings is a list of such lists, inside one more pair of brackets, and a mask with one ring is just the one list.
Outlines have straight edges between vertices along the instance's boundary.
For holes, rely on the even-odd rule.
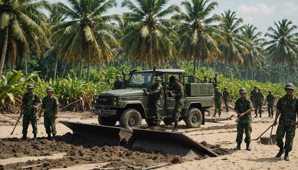
[[134,108],[125,110],[120,117],[120,127],[128,130],[141,127],[142,117],[139,111]]

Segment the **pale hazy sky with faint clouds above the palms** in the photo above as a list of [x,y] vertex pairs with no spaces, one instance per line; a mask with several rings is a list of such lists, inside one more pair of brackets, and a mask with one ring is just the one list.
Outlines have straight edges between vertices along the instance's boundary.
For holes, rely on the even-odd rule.
[[[56,2],[57,0],[48,0],[50,3]],[[122,12],[129,12],[124,7],[121,8],[123,0],[116,0],[118,7],[112,8],[107,15],[122,14]],[[131,0],[134,2],[134,0]],[[67,4],[67,0],[60,0]],[[221,14],[226,10],[236,11],[236,17],[243,18],[244,24],[253,24],[257,27],[257,31],[265,34],[268,32],[268,27],[271,26],[274,29],[274,21],[278,23],[282,19],[288,19],[293,24],[298,26],[298,0],[217,0],[218,7],[212,11],[213,14]],[[171,4],[180,5],[181,0],[169,0],[168,6]],[[185,11],[181,6],[181,10]],[[298,32],[298,30],[297,30]]]

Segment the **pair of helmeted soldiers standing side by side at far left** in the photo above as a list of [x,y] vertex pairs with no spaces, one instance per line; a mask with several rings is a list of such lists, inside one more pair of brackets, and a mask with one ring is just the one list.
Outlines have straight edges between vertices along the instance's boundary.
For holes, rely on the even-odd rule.
[[[59,110],[58,99],[52,95],[54,90],[50,86],[46,88],[47,96],[44,97],[43,100],[40,99],[38,94],[33,92],[34,88],[35,87],[33,86],[33,84],[27,84],[28,92],[25,93],[22,98],[20,117],[22,115],[24,116],[22,130],[23,136],[20,138],[20,140],[27,140],[27,130],[29,122],[31,122],[32,125],[32,133],[34,135],[33,140],[37,140],[37,108],[41,106],[41,110],[39,111],[39,118],[44,111],[44,127],[48,135],[47,139],[55,142],[55,135],[57,133],[55,119],[58,118],[57,114]],[[52,138],[51,132],[53,134]]]

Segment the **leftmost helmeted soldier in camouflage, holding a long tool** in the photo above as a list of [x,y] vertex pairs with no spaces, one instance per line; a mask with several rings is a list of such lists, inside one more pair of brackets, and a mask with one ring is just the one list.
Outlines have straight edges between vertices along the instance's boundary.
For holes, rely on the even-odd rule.
[[33,92],[33,89],[35,87],[33,84],[29,83],[27,84],[27,90],[28,92],[23,95],[22,98],[22,104],[21,104],[21,113],[20,117],[23,115],[23,109],[24,109],[24,117],[23,117],[23,136],[20,138],[21,140],[27,140],[27,129],[29,126],[29,122],[31,122],[32,125],[32,133],[34,134],[33,140],[36,141],[36,133],[37,130],[37,108],[42,105],[41,99]]

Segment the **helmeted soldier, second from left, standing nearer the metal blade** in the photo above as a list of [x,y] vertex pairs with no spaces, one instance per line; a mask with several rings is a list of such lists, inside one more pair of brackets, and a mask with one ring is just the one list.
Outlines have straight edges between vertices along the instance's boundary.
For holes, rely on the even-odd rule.
[[39,112],[39,117],[41,117],[41,113],[44,111],[44,127],[46,128],[46,134],[48,134],[47,139],[51,140],[52,131],[52,141],[55,142],[55,136],[57,133],[55,119],[58,118],[57,114],[59,110],[59,103],[58,99],[52,95],[53,91],[53,88],[50,86],[46,88],[47,96],[42,99],[42,106]]

